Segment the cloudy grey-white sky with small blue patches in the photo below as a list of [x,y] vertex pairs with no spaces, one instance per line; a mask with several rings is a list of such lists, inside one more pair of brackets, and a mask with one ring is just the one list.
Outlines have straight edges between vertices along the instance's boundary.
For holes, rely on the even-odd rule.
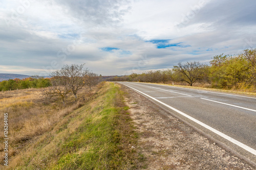
[[0,73],[102,76],[209,64],[256,47],[251,0],[0,0]]

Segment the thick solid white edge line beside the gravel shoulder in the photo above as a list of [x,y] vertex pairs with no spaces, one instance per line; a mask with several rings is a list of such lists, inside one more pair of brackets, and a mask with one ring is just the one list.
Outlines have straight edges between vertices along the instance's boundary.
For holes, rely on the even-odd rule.
[[[126,85],[126,86],[127,86],[127,85]],[[130,87],[130,86],[127,86],[127,87]],[[147,95],[147,94],[145,94],[145,93],[143,93],[143,92],[141,92],[141,91],[139,91],[139,90],[137,90],[137,89],[135,89],[135,88],[133,88],[133,87],[130,87],[130,88],[131,88],[131,89],[134,89],[135,91],[138,91],[138,92],[140,92],[141,94],[143,94],[143,95],[145,95],[145,96],[148,96],[148,98],[151,98],[151,99],[153,99],[154,101],[156,101],[156,102],[158,102],[158,103],[160,103],[160,104],[162,104],[162,105],[164,105],[164,106],[166,106],[166,107],[168,107],[168,108],[170,108],[170,109],[172,109],[172,110],[174,110],[174,111],[180,113],[181,115],[183,115],[183,116],[189,118],[190,120],[192,120],[192,121],[194,121],[195,123],[197,123],[197,124],[203,126],[204,128],[206,128],[206,129],[208,129],[208,130],[210,130],[210,131],[212,131],[212,132],[218,134],[219,136],[221,136],[221,137],[227,139],[228,141],[230,141],[230,142],[232,142],[232,143],[238,145],[239,147],[243,148],[244,150],[250,152],[251,154],[256,155],[256,150],[254,150],[254,149],[248,147],[248,146],[245,145],[244,143],[241,143],[240,141],[238,141],[238,140],[236,140],[236,139],[233,139],[233,138],[231,138],[230,136],[227,136],[227,135],[225,135],[224,133],[222,133],[222,132],[220,132],[220,131],[218,131],[218,130],[216,130],[216,129],[214,129],[214,128],[211,128],[210,126],[208,126],[208,125],[206,125],[206,124],[200,122],[199,120],[197,120],[197,119],[195,119],[195,118],[193,118],[193,117],[191,117],[191,116],[189,116],[189,115],[183,113],[182,111],[179,111],[179,110],[173,108],[172,106],[169,106],[169,105],[167,105],[167,104],[165,104],[165,103],[163,103],[163,102],[161,102],[161,101],[159,101],[159,100],[153,98],[153,97],[150,96],[150,95]]]

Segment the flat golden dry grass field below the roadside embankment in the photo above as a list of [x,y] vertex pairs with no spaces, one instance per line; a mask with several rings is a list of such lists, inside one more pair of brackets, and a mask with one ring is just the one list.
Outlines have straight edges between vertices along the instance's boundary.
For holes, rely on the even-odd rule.
[[[9,158],[13,159],[31,140],[53,129],[63,117],[86,103],[96,89],[95,87],[89,92],[87,88],[83,88],[78,93],[77,103],[72,95],[68,96],[65,107],[58,98],[42,98],[42,89],[0,92],[1,115],[8,113]],[[4,129],[4,120],[0,122],[0,128]],[[1,133],[1,162],[4,155],[3,139],[4,133]]]

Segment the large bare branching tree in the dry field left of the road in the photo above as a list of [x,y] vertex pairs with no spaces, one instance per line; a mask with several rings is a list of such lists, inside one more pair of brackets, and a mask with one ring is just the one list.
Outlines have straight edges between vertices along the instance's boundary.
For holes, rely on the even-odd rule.
[[87,84],[88,68],[83,68],[85,64],[64,65],[61,70],[52,72],[51,76],[65,82],[65,88],[69,89],[77,99],[77,91]]

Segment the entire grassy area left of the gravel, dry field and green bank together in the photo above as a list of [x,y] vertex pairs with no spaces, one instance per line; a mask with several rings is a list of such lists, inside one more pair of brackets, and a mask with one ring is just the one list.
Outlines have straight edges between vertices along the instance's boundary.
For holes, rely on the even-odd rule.
[[[84,88],[77,103],[69,96],[65,106],[58,98],[42,98],[41,93],[41,89],[1,92],[1,113],[8,113],[9,120],[8,169],[139,166],[131,148],[137,135],[122,92],[113,83],[101,83],[91,91]],[[0,142],[3,162],[4,144]]]

